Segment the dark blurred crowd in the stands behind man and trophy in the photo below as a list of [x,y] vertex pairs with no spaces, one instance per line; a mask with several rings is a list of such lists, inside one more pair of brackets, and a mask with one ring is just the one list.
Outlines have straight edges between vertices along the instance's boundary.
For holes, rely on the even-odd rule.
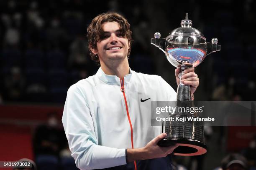
[[131,24],[131,68],[161,75],[171,85],[174,76],[167,69],[172,66],[151,46],[150,38],[156,31],[167,36],[189,12],[193,26],[207,41],[218,37],[222,45],[221,52],[196,70],[204,99],[253,100],[255,2],[189,0],[174,4],[176,10],[165,4],[164,0],[1,1],[0,103],[63,103],[70,85],[97,71],[88,55],[86,28],[93,17],[107,11],[123,14]]

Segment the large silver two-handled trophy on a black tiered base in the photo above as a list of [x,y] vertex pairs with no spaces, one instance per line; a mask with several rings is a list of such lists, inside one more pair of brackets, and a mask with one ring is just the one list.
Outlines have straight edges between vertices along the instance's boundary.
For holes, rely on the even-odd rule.
[[[206,55],[212,52],[220,51],[220,45],[217,45],[218,39],[212,38],[212,42],[206,42],[202,33],[192,27],[192,20],[181,21],[181,27],[173,30],[166,38],[160,38],[159,32],[151,39],[151,44],[162,50],[167,60],[175,67],[180,67],[179,78],[184,75],[184,70],[191,66],[196,67]],[[184,85],[181,81],[177,90],[177,106],[191,106],[190,86]],[[169,117],[177,116],[198,116],[186,112],[175,112]],[[162,133],[166,133],[165,139],[161,140],[159,146],[171,146],[178,144],[174,150],[174,155],[192,156],[202,155],[207,152],[206,145],[203,142],[204,124],[196,121],[164,121],[162,122]]]

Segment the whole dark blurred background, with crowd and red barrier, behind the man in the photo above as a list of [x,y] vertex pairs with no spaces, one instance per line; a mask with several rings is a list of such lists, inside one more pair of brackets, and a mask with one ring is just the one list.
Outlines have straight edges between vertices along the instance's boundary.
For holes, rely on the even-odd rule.
[[[177,89],[174,67],[150,44],[166,37],[189,13],[207,42],[221,51],[195,68],[196,100],[255,100],[256,1],[243,0],[5,0],[0,1],[0,161],[29,158],[38,168],[75,169],[61,116],[67,89],[97,72],[88,55],[86,28],[96,15],[115,11],[131,24],[130,67],[156,74]],[[174,157],[188,170],[213,170],[230,153],[256,165],[256,128],[206,127],[208,152]],[[42,168],[44,167],[44,168]],[[49,169],[49,168],[48,168]],[[253,169],[253,168],[251,168]]]

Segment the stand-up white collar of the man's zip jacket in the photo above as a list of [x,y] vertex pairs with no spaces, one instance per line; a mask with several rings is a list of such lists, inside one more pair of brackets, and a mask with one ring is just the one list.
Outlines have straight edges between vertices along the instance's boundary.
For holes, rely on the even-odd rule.
[[[133,71],[130,68],[129,74],[124,76],[124,83],[125,84],[131,82],[132,72]],[[97,71],[96,76],[99,77],[100,80],[102,80],[105,83],[113,84],[113,85],[120,85],[120,78],[118,76],[116,76],[116,75],[106,75],[103,72],[103,70],[101,69],[101,67]]]

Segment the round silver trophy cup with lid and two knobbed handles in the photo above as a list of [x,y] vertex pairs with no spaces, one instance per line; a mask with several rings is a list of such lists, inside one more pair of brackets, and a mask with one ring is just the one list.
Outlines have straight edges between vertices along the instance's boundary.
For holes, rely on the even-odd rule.
[[181,67],[182,61],[196,67],[206,55],[220,51],[220,45],[217,45],[218,39],[212,38],[211,42],[206,42],[204,35],[192,27],[192,20],[188,20],[188,13],[186,13],[186,19],[181,21],[181,27],[173,30],[166,38],[160,38],[159,32],[156,32],[154,37],[151,38],[151,44],[159,47],[174,67]]

